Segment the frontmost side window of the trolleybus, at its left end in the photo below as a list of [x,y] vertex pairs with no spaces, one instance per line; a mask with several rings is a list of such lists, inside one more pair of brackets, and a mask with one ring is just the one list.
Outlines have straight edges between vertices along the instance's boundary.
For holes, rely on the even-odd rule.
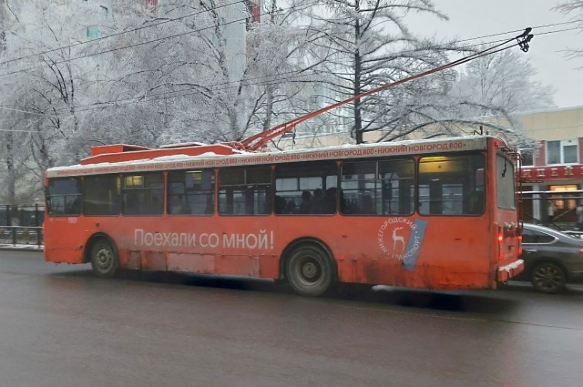
[[79,178],[51,179],[48,182],[47,207],[50,215],[79,215],[81,213],[81,180]]

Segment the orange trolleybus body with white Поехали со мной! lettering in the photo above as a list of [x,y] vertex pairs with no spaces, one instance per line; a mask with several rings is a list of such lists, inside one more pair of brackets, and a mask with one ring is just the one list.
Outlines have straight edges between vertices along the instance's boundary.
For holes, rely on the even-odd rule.
[[117,269],[495,289],[520,273],[516,157],[491,136],[249,153],[92,148],[45,175],[44,254]]

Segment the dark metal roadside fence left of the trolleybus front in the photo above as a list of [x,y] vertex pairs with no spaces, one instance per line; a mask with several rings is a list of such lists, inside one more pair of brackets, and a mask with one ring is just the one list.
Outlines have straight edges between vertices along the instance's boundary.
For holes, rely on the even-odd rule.
[[0,245],[43,245],[44,207],[0,205]]

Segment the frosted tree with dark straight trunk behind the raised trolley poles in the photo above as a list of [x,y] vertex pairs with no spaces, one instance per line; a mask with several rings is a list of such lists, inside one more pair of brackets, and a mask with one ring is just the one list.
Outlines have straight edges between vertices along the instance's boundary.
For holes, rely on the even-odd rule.
[[[410,13],[429,13],[445,19],[430,0],[326,1],[322,22],[326,39],[322,51],[331,50],[326,64],[332,79],[332,96],[340,99],[426,71],[447,62],[451,42],[427,40],[409,30]],[[357,143],[371,131],[385,138],[399,138],[403,128],[422,123],[433,115],[431,101],[452,79],[444,72],[386,90],[352,104],[350,133]],[[335,99],[335,98],[334,98]]]

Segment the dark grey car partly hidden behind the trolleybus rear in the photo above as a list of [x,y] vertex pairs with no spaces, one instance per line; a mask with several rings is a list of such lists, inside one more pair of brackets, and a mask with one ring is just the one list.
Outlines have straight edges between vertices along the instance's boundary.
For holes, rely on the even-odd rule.
[[524,276],[536,290],[557,293],[567,282],[583,277],[583,240],[537,224],[524,224]]

